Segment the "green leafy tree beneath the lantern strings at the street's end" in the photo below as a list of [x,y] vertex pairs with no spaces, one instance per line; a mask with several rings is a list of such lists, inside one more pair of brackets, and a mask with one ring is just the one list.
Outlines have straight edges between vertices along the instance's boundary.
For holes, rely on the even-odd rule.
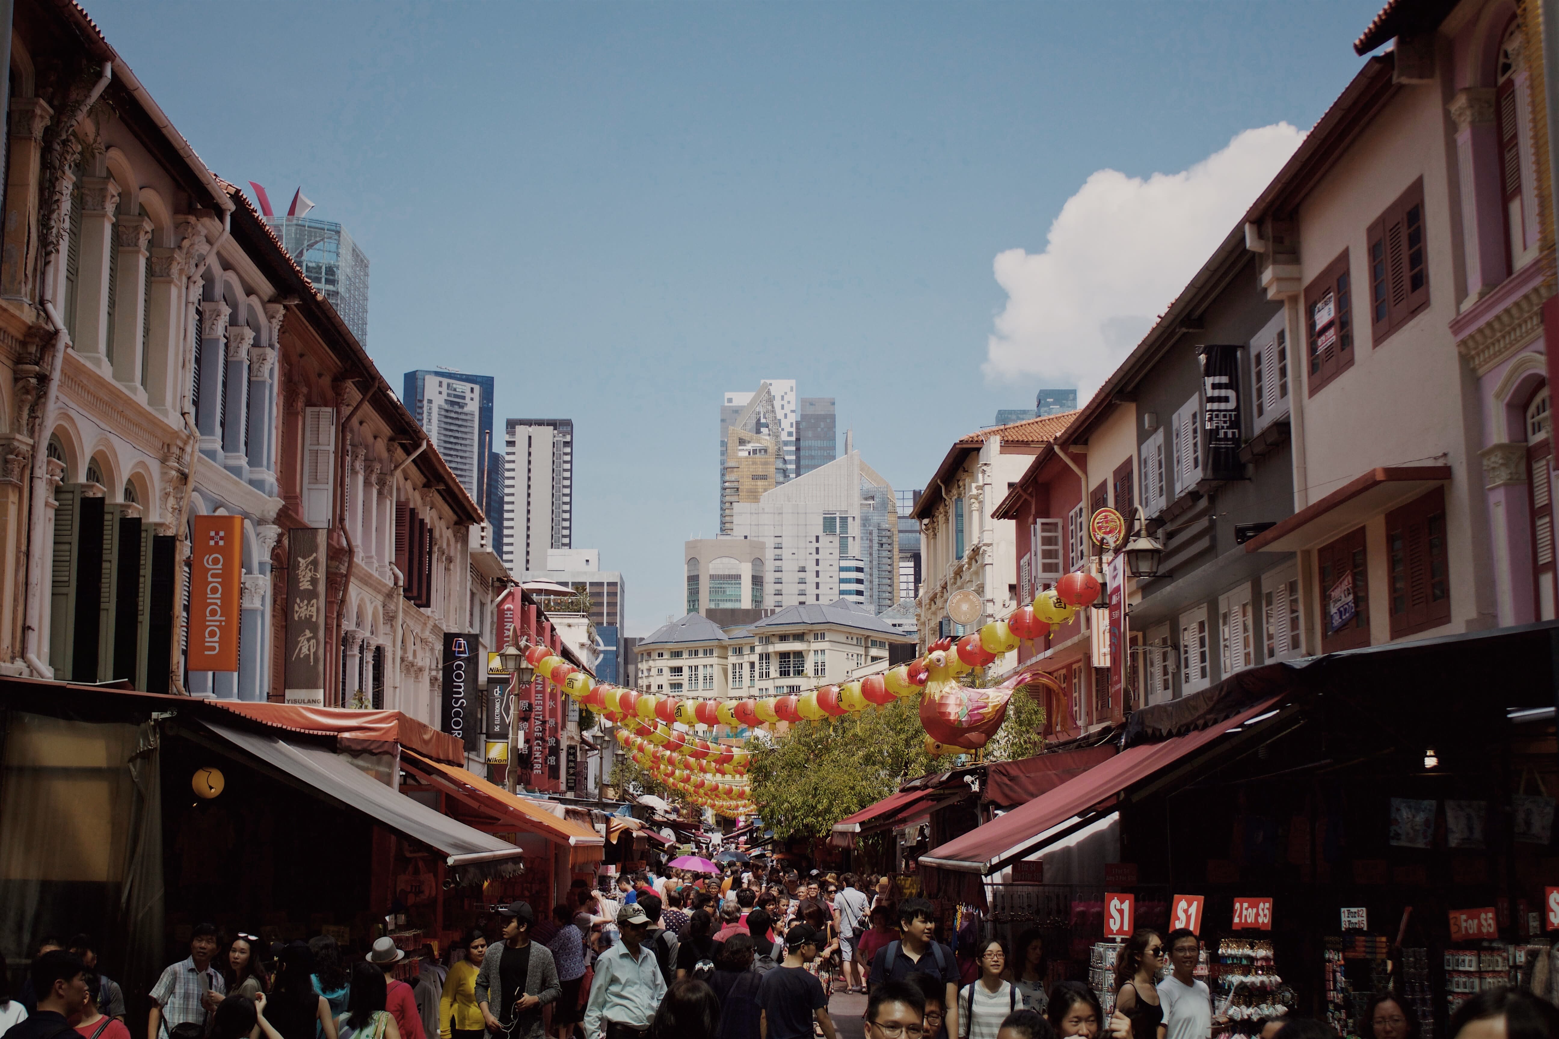
[[753,804],[775,833],[828,833],[932,768],[914,696],[861,713],[801,721],[773,741],[748,740]]

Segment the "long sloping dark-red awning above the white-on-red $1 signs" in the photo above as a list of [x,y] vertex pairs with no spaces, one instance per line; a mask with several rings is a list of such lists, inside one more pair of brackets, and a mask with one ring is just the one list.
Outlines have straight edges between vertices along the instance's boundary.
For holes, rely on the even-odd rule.
[[[1165,740],[1163,743],[1138,743],[1121,751],[1110,760],[1076,779],[1062,784],[1051,793],[998,816],[985,826],[974,827],[963,836],[934,847],[920,857],[926,871],[951,869],[965,874],[990,875],[1004,865],[1032,854],[1045,846],[1048,830],[1080,816],[1101,805],[1127,787],[1147,779],[1186,754],[1211,743],[1228,729],[1272,709],[1278,696],[1261,701],[1255,707],[1219,721],[1207,729]],[[1057,835],[1059,836],[1059,835]]]

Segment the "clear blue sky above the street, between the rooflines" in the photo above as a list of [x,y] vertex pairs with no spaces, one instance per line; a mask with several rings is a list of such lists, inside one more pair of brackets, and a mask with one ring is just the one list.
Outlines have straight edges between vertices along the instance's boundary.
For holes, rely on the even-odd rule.
[[[681,612],[681,541],[716,533],[722,391],[797,379],[921,486],[1055,372],[1096,382],[1068,343],[985,366],[996,255],[1043,252],[1096,171],[1308,129],[1378,2],[87,9],[214,171],[349,227],[393,386],[447,365],[497,377],[499,424],[574,419],[574,544],[645,634]],[[1207,252],[1144,238],[1171,269]]]

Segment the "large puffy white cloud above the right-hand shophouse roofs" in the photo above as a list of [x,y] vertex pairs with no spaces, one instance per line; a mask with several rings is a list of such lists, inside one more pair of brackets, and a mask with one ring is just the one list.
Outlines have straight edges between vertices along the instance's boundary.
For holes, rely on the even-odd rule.
[[1182,173],[1099,170],[1066,199],[1045,252],[1007,249],[987,379],[1040,377],[1088,399],[1288,160],[1303,132],[1247,129]]

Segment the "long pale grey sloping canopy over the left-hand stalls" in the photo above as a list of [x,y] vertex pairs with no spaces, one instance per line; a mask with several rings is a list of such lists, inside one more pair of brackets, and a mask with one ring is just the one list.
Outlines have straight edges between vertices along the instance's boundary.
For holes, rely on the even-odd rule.
[[310,793],[324,794],[345,808],[360,812],[402,836],[443,852],[449,866],[491,863],[499,866],[496,872],[502,872],[505,865],[519,865],[522,852],[508,841],[396,793],[340,754],[304,743],[288,743],[268,732],[248,732],[215,721],[201,724],[232,748],[259,759],[271,771],[282,773],[284,779],[304,784]]

